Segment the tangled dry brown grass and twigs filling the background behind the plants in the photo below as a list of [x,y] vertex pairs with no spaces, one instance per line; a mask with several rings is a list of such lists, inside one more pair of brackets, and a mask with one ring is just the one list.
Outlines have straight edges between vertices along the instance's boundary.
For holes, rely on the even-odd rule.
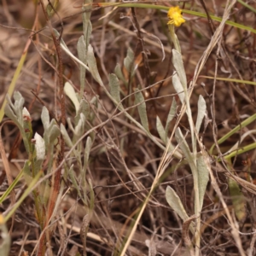
[[[84,33],[83,1],[62,0],[55,9],[46,9],[48,1],[44,1],[45,10],[41,1],[1,3],[1,104],[17,67],[21,67],[15,90],[25,99],[28,110],[26,114],[23,112],[26,120],[22,122],[30,124],[32,120],[32,127],[26,127],[25,131],[32,132],[33,138],[36,133],[44,136],[45,143],[44,133],[49,126],[44,122],[48,112],[49,120],[57,127],[56,133],[50,135],[56,135],[56,140],[48,137],[49,147],[45,149],[47,154],[37,177],[36,173],[26,172],[32,170],[35,153],[27,153],[17,123],[6,116],[2,120],[0,211],[3,217],[9,216],[20,201],[7,222],[1,224],[2,229],[9,230],[9,255],[256,255],[255,9],[249,9],[242,1],[147,2],[166,7],[178,4],[184,10],[186,22],[175,30],[188,86],[194,83],[193,90],[191,87],[189,90],[194,122],[200,95],[207,106],[195,148],[198,154],[204,152],[205,160],[211,164],[210,169],[207,166],[210,179],[200,211],[200,250],[196,250],[198,240],[194,235],[198,233],[193,235],[193,229],[189,232],[199,218],[194,209],[195,180],[189,160],[172,131],[179,127],[189,148],[194,134],[191,136],[184,104],[172,86],[173,45],[166,11],[108,7],[96,2],[99,1],[85,5],[85,8],[90,6],[84,11],[88,15],[91,10],[92,32],[84,40],[89,40],[94,51],[100,79],[91,73],[93,67],[88,64],[90,72],[86,71],[82,95],[81,70],[85,69],[61,49],[62,43],[53,40],[53,35],[56,39],[62,32],[61,42],[65,42],[69,53],[83,59],[83,51],[79,55],[77,50]],[[232,5],[230,9],[226,9],[227,4]],[[247,4],[256,8],[253,1]],[[243,27],[224,25],[221,20],[186,10],[218,17],[226,15]],[[87,27],[88,20],[84,19]],[[26,60],[20,64],[20,57],[25,54]],[[119,78],[123,109],[109,97],[108,91],[119,97],[111,87],[116,76],[109,73],[116,73]],[[62,86],[67,82],[70,87],[64,96]],[[76,100],[71,88],[79,95]],[[168,153],[167,140],[164,142],[160,137],[156,119],[166,125],[174,100],[177,108],[167,134],[177,147],[175,154],[173,151],[164,154]],[[85,118],[78,119],[81,108]],[[146,121],[142,118],[145,110]],[[83,125],[79,126],[79,121]],[[146,128],[145,122],[148,122]],[[227,136],[236,127],[232,136]],[[65,131],[72,142],[63,135]],[[223,143],[212,148],[224,136]],[[32,137],[28,137],[28,148],[33,148]],[[163,160],[163,172],[156,180]],[[25,163],[28,163],[26,168]],[[24,175],[3,200],[20,172]],[[33,188],[29,188],[31,183]],[[189,216],[186,221],[167,203],[167,186],[176,191],[182,202]],[[42,191],[46,201],[40,201]],[[23,195],[26,196],[22,198]],[[143,202],[146,202],[144,209]],[[132,227],[136,230],[129,236]],[[125,246],[126,254],[121,254]],[[1,255],[8,254],[2,251]]]

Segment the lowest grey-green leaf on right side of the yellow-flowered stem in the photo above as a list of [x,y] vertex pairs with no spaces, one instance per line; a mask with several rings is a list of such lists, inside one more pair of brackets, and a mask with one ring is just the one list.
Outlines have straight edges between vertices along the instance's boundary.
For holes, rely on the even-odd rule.
[[204,157],[200,155],[197,160],[197,172],[198,172],[198,190],[199,190],[199,201],[200,201],[200,211],[203,206],[204,196],[207,189],[207,183],[209,181],[209,173],[207,169],[207,164]]

